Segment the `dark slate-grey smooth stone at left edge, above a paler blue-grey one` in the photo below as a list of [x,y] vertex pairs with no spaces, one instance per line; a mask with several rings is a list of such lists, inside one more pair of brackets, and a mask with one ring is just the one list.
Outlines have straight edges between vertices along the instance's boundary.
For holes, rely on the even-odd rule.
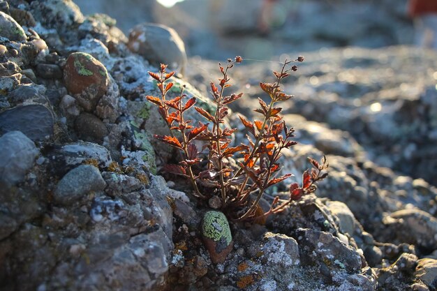
[[19,130],[37,141],[52,137],[53,127],[53,114],[43,105],[15,107],[0,114],[0,133]]

